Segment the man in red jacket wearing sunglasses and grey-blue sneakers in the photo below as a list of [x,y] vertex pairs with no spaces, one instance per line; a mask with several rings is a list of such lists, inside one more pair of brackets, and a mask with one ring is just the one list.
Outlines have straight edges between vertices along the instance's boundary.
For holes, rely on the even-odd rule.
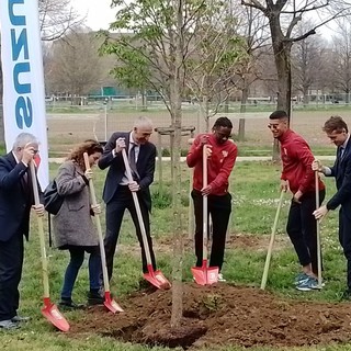
[[[306,140],[290,129],[285,111],[273,112],[268,127],[281,144],[281,191],[293,193],[286,231],[302,265],[295,285],[299,291],[310,291],[318,287],[317,224],[313,215],[316,210],[314,156]],[[320,204],[325,194],[325,184],[319,179]]]

